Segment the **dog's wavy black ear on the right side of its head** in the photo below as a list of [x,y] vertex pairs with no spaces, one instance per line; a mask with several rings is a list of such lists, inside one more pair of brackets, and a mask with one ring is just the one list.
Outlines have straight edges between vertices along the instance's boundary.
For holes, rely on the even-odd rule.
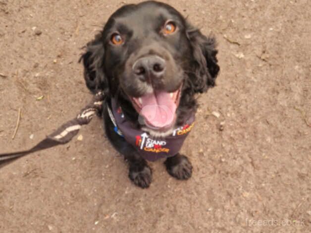
[[216,41],[213,36],[206,37],[199,29],[191,25],[187,27],[187,37],[193,48],[193,65],[196,73],[196,92],[204,92],[208,87],[215,86],[219,72],[216,55]]

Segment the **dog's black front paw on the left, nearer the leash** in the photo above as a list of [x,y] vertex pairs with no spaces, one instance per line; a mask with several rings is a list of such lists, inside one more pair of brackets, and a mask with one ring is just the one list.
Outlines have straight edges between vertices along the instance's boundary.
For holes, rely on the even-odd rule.
[[147,164],[131,164],[130,179],[139,187],[148,188],[152,180],[152,170]]

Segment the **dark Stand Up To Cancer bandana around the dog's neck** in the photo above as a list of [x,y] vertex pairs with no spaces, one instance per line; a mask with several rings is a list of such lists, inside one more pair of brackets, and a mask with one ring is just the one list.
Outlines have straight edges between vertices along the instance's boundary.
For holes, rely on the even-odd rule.
[[195,116],[190,113],[185,117],[186,120],[179,127],[176,127],[172,133],[165,137],[153,137],[148,132],[133,126],[127,120],[121,107],[111,99],[111,109],[109,106],[108,114],[114,124],[114,131],[124,137],[124,139],[135,147],[138,153],[146,160],[155,161],[161,158],[167,158],[176,155],[181,149],[186,137],[194,126]]

